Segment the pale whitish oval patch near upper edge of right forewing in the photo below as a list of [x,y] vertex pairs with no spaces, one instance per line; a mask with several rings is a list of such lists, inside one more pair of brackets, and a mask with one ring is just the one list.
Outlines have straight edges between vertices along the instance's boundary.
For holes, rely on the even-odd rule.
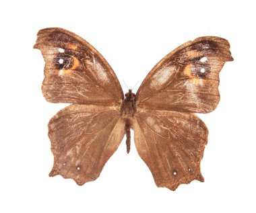
[[170,77],[176,70],[177,69],[174,66],[164,67],[160,69],[153,75],[150,87],[154,88],[164,85],[164,83],[166,83],[170,79]]

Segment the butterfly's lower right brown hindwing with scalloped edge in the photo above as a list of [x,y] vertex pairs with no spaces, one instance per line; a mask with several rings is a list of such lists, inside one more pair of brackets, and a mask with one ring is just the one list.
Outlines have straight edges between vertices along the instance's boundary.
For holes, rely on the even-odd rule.
[[200,161],[208,131],[197,116],[154,110],[137,112],[135,119],[137,151],[158,187],[175,190],[181,183],[203,181]]

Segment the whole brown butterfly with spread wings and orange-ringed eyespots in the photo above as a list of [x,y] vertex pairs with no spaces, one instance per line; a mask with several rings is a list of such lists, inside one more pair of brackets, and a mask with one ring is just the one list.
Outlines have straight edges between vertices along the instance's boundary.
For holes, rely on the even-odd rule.
[[212,112],[219,73],[233,60],[223,38],[187,42],[150,71],[137,93],[123,90],[108,62],[88,42],[61,28],[38,32],[34,48],[45,60],[42,93],[53,103],[72,103],[49,122],[54,165],[50,176],[94,181],[126,134],[158,187],[175,190],[203,181],[200,161],[207,127],[194,113]]

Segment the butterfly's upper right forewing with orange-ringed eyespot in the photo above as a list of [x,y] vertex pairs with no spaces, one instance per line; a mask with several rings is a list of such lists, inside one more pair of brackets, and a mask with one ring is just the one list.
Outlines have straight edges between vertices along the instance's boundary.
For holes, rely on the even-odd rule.
[[212,112],[218,105],[219,73],[233,60],[228,41],[197,38],[170,52],[139,87],[138,108],[177,112]]

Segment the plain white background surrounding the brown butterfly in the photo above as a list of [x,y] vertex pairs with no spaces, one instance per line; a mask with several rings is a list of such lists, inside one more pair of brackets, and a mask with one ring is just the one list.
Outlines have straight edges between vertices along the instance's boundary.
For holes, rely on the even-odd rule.
[[[239,3],[237,3],[239,2]],[[0,212],[255,212],[255,6],[253,1],[1,1]],[[139,84],[163,56],[199,36],[221,36],[233,62],[220,73],[218,108],[200,115],[210,130],[205,182],[156,187],[125,141],[96,181],[78,186],[48,176],[47,123],[64,104],[40,91],[44,61],[38,30],[60,27],[108,60],[123,90]],[[134,91],[137,90],[137,85]]]

